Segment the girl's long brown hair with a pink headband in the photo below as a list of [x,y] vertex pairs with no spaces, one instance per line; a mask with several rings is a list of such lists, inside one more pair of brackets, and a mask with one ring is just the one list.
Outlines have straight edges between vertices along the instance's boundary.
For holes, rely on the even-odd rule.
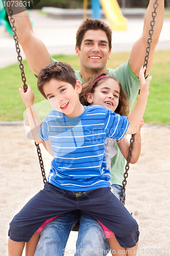
[[86,81],[82,84],[82,91],[80,93],[80,102],[86,106],[90,105],[90,103],[87,101],[86,95],[88,93],[94,93],[95,88],[98,87],[104,81],[104,79],[112,78],[118,83],[119,88],[120,88],[119,102],[118,102],[118,106],[115,110],[115,113],[119,114],[121,116],[128,116],[130,113],[130,103],[129,103],[127,94],[124,92],[124,90],[122,88],[122,84],[114,76],[106,76],[96,82],[96,80],[100,76],[103,76],[103,75],[106,76],[106,74],[104,74],[104,73],[98,74],[98,75],[93,76],[88,81]]

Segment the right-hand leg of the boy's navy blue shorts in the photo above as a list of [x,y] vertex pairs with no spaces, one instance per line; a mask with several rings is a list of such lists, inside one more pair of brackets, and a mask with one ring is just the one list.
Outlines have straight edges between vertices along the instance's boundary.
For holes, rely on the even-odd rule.
[[113,195],[112,188],[89,190],[81,197],[88,197],[89,201],[87,206],[85,200],[80,200],[79,208],[109,228],[122,247],[133,248],[136,245],[139,237],[138,225],[128,210]]

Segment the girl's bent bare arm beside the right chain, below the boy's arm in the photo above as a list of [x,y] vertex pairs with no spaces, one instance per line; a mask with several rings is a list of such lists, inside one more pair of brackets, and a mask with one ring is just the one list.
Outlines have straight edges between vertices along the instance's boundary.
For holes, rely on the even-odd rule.
[[[141,127],[143,126],[144,122],[143,119],[140,122],[139,130],[134,136],[134,143],[133,143],[133,150],[132,150],[132,156],[130,163],[134,164],[137,162],[140,156],[140,150],[141,150]],[[126,137],[126,135],[122,138],[122,140],[117,140],[117,145],[119,147],[120,152],[122,152],[125,159],[128,157],[128,151],[129,151],[129,141]]]

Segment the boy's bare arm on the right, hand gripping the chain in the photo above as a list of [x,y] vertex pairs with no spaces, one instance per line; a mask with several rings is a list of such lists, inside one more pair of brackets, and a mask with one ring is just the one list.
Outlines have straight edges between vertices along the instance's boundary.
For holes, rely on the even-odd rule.
[[126,132],[127,134],[136,134],[137,133],[139,126],[140,126],[140,121],[143,118],[144,110],[147,105],[147,99],[148,99],[148,95],[149,95],[149,84],[150,84],[152,77],[150,76],[147,79],[147,81],[145,81],[144,71],[145,71],[145,67],[144,68],[142,67],[140,69],[140,73],[139,73],[140,94],[139,94],[139,97],[137,99],[136,105],[135,105],[132,113],[128,117],[129,126],[128,126],[128,129]]

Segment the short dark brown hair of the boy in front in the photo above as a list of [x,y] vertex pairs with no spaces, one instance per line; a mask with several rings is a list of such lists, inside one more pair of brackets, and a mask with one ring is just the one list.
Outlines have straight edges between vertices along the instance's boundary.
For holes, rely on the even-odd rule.
[[38,90],[45,98],[46,95],[44,94],[43,86],[51,79],[68,82],[73,88],[75,88],[77,80],[75,71],[69,64],[63,62],[53,62],[48,64],[40,70],[37,81]]

